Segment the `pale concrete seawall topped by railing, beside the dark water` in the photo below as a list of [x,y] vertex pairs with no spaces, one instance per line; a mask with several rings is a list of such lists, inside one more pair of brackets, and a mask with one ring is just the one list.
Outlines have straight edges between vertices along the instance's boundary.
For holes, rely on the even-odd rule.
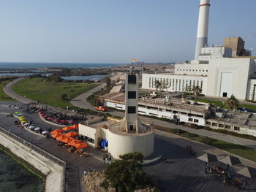
[[0,127],[0,144],[46,176],[46,192],[65,191],[66,164]]

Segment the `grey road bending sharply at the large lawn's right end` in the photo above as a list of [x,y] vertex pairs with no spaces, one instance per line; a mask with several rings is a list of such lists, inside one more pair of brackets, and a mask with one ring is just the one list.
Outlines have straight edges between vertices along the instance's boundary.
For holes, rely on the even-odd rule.
[[102,88],[104,88],[107,84],[103,83],[102,85],[99,85],[97,88],[93,88],[90,91],[81,94],[80,96],[77,96],[75,99],[72,99],[71,104],[74,105],[75,107],[80,107],[83,109],[90,109],[90,110],[94,110],[94,107],[91,106],[91,104],[89,104],[86,101],[86,98],[88,96],[90,96],[91,94],[100,91]]

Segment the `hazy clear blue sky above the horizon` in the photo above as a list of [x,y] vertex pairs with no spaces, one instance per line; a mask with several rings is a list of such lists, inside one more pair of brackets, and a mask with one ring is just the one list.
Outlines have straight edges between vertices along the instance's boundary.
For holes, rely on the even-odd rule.
[[[0,0],[0,61],[190,60],[199,0]],[[256,55],[256,1],[211,0],[208,40],[240,36]]]

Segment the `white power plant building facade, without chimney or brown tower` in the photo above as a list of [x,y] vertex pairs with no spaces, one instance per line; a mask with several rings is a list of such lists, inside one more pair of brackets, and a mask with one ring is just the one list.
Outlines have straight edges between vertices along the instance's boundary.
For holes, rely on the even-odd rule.
[[225,47],[203,47],[201,53],[199,58],[203,60],[176,64],[174,74],[143,74],[142,88],[156,90],[155,82],[159,80],[163,91],[181,92],[199,86],[206,96],[229,97],[233,94],[237,99],[255,101],[254,58],[230,58],[230,49]]

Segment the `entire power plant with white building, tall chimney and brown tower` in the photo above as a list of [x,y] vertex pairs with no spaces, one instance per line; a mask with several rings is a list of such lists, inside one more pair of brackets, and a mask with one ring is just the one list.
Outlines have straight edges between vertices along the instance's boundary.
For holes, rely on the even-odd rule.
[[210,0],[200,1],[195,60],[175,65],[174,73],[142,74],[142,88],[163,91],[185,91],[199,86],[206,96],[229,97],[255,101],[256,63],[244,49],[240,37],[224,39],[223,46],[208,47],[208,14]]

